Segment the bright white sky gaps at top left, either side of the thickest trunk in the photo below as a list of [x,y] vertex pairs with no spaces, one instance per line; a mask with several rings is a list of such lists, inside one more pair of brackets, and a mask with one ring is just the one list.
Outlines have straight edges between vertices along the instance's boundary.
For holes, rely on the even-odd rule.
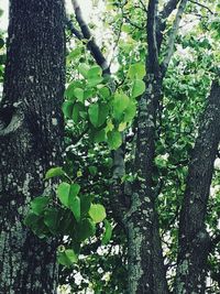
[[[90,0],[79,0],[79,3],[81,7],[84,18],[88,22],[89,15],[91,12],[91,1]],[[72,7],[70,0],[66,0],[66,7],[67,7],[67,12],[73,13],[73,7]],[[7,28],[8,28],[8,13],[9,13],[9,0],[1,0],[0,1],[0,9],[3,10],[3,15],[0,18],[0,29],[7,30]]]

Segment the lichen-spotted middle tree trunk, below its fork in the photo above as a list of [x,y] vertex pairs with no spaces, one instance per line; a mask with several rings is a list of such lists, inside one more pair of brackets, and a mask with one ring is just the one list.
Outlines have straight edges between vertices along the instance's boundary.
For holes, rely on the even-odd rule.
[[129,239],[129,293],[168,293],[163,263],[158,217],[153,189],[155,156],[155,121],[161,80],[147,76],[147,90],[139,102],[135,172],[139,181],[134,187],[130,211],[124,224]]

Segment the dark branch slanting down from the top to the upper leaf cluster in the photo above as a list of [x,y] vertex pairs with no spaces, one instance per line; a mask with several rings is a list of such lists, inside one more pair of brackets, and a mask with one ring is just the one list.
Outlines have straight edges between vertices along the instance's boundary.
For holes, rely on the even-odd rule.
[[107,63],[106,57],[103,56],[101,50],[97,45],[94,36],[91,35],[91,32],[89,30],[88,24],[84,21],[82,14],[81,14],[81,9],[77,2],[77,0],[72,0],[76,20],[80,26],[81,33],[84,35],[84,39],[88,40],[87,47],[91,52],[91,55],[94,56],[95,61],[97,64],[102,68],[103,74],[110,74],[110,68]]

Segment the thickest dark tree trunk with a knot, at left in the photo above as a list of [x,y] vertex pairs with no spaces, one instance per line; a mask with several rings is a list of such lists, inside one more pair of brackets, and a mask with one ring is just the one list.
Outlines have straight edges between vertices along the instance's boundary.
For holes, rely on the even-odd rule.
[[34,196],[52,193],[46,170],[62,162],[65,84],[63,0],[11,0],[0,105],[0,293],[56,292],[56,240],[23,226]]

